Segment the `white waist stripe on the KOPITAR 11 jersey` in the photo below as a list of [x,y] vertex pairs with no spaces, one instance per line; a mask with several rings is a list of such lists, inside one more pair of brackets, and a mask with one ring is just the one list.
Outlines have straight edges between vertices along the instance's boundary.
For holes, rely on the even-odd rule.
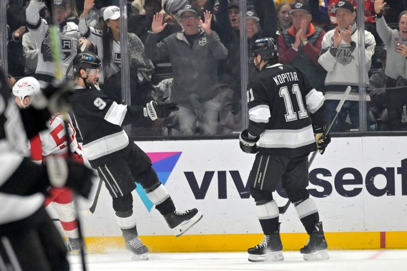
[[299,130],[265,130],[260,135],[259,147],[297,148],[315,142],[312,125]]

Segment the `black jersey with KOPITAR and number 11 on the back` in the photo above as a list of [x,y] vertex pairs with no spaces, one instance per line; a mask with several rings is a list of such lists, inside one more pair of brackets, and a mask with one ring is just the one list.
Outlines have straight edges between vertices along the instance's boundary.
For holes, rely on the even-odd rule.
[[310,114],[324,104],[324,95],[291,65],[275,64],[248,84],[248,132],[260,136],[259,153],[301,156],[316,150]]

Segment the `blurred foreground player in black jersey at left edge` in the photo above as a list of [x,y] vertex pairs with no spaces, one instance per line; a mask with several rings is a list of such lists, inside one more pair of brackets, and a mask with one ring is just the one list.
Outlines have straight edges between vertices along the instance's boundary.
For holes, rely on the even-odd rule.
[[0,77],[0,269],[69,270],[67,248],[45,210],[44,194],[51,185],[65,185],[87,197],[93,170],[62,157],[34,163],[27,138],[47,129],[45,97],[53,89],[45,97],[31,96],[31,105],[18,109],[2,71]]

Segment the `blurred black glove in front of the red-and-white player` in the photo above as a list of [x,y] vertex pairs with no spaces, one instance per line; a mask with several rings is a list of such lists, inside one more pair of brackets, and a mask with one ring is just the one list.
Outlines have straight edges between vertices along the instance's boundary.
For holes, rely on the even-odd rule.
[[92,169],[61,156],[48,156],[45,165],[51,186],[66,186],[85,198],[89,197],[92,178],[95,177]]

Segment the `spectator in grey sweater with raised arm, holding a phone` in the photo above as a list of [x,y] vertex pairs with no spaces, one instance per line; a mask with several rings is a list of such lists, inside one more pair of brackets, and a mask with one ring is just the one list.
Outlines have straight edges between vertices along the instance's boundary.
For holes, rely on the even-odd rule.
[[400,13],[398,22],[399,29],[391,29],[387,26],[382,11],[386,3],[383,0],[374,2],[376,13],[376,29],[386,46],[387,61],[385,73],[388,76],[386,82],[386,104],[389,114],[389,130],[407,130],[407,11]]

